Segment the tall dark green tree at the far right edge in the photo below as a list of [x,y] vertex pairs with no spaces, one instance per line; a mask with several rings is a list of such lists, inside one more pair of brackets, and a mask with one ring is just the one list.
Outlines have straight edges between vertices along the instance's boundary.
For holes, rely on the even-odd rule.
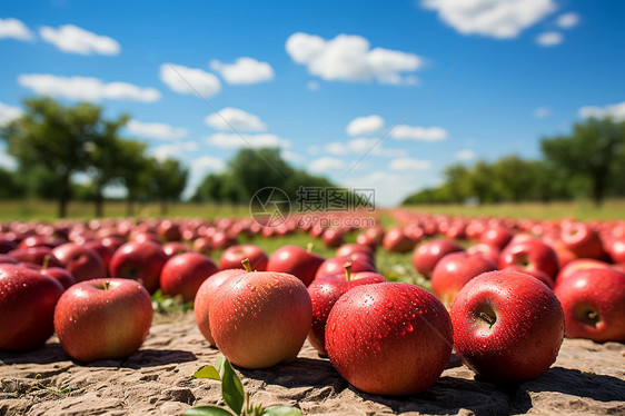
[[589,118],[574,125],[571,136],[544,138],[546,164],[568,178],[587,181],[595,205],[604,200],[617,170],[625,162],[625,121]]

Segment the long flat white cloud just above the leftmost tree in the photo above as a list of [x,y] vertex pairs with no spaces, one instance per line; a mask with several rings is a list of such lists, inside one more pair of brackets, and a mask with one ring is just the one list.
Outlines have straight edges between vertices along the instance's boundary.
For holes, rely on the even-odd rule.
[[72,100],[110,99],[152,102],[160,99],[160,92],[155,88],[141,88],[127,82],[106,83],[98,78],[22,73],[18,77],[18,82],[42,96],[65,97]]

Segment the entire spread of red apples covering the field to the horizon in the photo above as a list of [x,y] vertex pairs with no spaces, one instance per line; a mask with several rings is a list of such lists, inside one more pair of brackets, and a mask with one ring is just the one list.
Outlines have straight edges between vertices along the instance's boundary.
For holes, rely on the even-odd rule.
[[[538,377],[564,335],[625,343],[625,221],[455,218],[396,210],[396,226],[262,228],[249,218],[12,222],[0,227],[0,348],[56,331],[78,361],[148,336],[150,295],[195,300],[199,330],[235,365],[294,360],[305,340],[357,388],[429,388],[452,351],[502,382]],[[335,257],[241,238],[307,232]],[[424,288],[391,283],[377,250],[411,252]],[[208,255],[224,250],[218,264]]]

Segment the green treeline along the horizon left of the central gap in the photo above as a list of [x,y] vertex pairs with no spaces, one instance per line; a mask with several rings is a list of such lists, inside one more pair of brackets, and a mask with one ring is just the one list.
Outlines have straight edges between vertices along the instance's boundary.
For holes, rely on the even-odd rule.
[[[50,98],[24,100],[24,113],[0,128],[7,152],[18,162],[14,170],[0,168],[0,199],[56,199],[59,217],[66,216],[71,199],[92,200],[95,215],[101,217],[103,190],[117,186],[125,189],[128,215],[138,201],[160,201],[165,214],[168,202],[180,200],[189,170],[179,160],[149,156],[145,142],[120,137],[129,119],[121,115],[107,120],[101,107],[87,102],[70,107]],[[292,168],[279,149],[244,148],[224,172],[204,178],[192,200],[249,204],[264,187],[281,189],[294,202],[302,187],[339,189]],[[361,202],[349,195],[350,204]]]

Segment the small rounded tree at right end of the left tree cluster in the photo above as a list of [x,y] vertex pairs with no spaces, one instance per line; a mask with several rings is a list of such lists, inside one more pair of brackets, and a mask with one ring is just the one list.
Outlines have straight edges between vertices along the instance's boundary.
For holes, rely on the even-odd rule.
[[180,198],[187,186],[188,169],[178,160],[148,160],[148,191],[160,202],[160,214],[167,214],[167,202]]

